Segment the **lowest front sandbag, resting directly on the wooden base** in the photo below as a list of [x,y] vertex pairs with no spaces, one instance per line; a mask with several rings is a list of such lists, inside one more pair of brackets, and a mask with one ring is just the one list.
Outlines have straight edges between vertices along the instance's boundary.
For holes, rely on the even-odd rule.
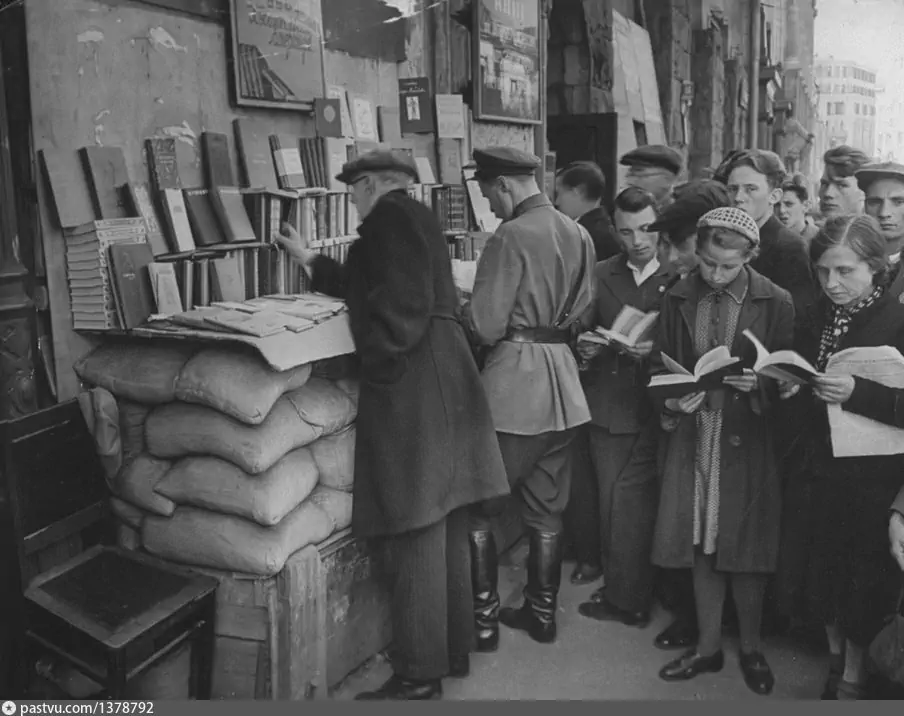
[[151,554],[174,562],[269,577],[278,573],[292,554],[322,542],[332,531],[330,516],[310,499],[275,527],[179,507],[170,519],[148,517],[141,543]]

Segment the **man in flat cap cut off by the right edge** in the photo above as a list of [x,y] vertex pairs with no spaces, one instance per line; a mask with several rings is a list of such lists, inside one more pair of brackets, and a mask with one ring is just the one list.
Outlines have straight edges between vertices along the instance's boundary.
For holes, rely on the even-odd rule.
[[863,191],[865,211],[879,222],[888,245],[888,258],[895,278],[891,291],[904,295],[904,270],[901,248],[904,246],[904,164],[881,162],[857,170],[857,184]]

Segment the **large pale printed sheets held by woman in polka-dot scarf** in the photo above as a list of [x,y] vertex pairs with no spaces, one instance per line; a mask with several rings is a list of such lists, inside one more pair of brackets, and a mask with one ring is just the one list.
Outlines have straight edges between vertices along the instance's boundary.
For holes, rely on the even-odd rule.
[[[826,373],[853,375],[889,388],[904,388],[904,356],[891,346],[848,348],[829,359]],[[851,413],[843,405],[827,408],[835,457],[904,454],[901,428]]]

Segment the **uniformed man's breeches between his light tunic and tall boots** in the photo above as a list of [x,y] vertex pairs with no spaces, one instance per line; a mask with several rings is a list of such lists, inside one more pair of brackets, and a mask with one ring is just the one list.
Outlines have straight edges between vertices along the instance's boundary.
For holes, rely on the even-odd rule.
[[[540,532],[562,531],[562,513],[571,490],[570,448],[575,432],[496,433],[512,499],[526,527]],[[472,527],[490,529],[492,518],[502,513],[505,499],[489,500],[474,510]]]

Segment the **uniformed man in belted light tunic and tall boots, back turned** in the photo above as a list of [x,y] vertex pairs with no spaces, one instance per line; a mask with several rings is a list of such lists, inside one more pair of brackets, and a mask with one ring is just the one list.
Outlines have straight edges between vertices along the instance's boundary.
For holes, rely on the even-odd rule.
[[556,637],[570,445],[590,420],[569,344],[591,303],[595,252],[586,229],[537,186],[537,157],[494,147],[475,151],[474,161],[480,190],[502,224],[480,257],[465,320],[473,340],[490,347],[483,384],[530,541],[524,603],[499,612],[493,510],[474,516],[477,648],[492,651],[498,621],[541,643]]

